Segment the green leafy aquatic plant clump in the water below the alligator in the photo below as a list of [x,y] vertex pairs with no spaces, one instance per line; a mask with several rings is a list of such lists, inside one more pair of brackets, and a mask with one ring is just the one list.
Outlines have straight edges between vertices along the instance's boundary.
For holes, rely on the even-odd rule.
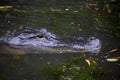
[[93,58],[74,57],[60,64],[49,64],[43,72],[49,80],[94,80],[92,71],[96,66]]

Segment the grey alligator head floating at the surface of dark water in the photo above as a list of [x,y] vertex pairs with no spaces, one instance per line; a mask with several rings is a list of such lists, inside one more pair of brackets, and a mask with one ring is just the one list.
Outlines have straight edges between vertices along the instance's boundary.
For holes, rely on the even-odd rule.
[[33,29],[30,27],[7,31],[5,35],[0,37],[0,44],[25,53],[40,53],[42,51],[98,53],[101,47],[100,40],[96,37],[61,37],[45,28]]

